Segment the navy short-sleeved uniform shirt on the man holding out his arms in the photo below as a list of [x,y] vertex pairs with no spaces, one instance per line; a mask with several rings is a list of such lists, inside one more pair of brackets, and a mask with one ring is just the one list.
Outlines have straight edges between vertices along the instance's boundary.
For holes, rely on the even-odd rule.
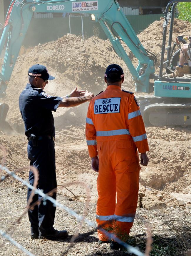
[[52,97],[42,89],[27,84],[19,96],[19,109],[25,125],[25,135],[55,136],[52,111],[57,110],[61,97]]

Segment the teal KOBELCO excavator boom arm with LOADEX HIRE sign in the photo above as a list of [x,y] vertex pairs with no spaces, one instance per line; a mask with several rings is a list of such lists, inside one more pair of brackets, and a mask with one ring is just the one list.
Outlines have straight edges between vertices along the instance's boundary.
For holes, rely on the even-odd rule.
[[[4,30],[0,40],[0,54],[5,46],[5,56],[0,73],[0,97],[6,93],[16,59],[28,30],[33,12],[68,12],[88,13],[99,22],[113,45],[115,52],[120,56],[130,70],[137,90],[149,92],[149,77],[154,74],[154,63],[140,43],[127,18],[123,14],[116,0],[93,1],[31,1],[13,0],[10,4]],[[130,48],[139,61],[137,69],[133,66],[120,40]],[[144,72],[139,75],[140,70]]]

